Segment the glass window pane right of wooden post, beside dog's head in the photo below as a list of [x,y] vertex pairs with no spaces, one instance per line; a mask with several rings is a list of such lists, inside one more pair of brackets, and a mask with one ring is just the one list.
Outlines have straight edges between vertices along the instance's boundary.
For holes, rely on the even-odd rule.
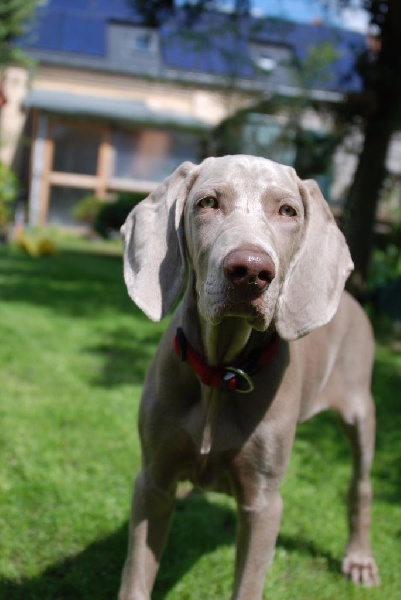
[[197,136],[181,131],[118,129],[113,146],[115,178],[162,181],[184,160],[199,159]]

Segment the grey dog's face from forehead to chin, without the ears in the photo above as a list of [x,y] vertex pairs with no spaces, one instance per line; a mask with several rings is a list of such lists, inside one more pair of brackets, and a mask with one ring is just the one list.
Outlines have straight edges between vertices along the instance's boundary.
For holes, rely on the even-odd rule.
[[206,160],[185,206],[185,240],[201,316],[266,329],[305,213],[290,167],[238,156]]

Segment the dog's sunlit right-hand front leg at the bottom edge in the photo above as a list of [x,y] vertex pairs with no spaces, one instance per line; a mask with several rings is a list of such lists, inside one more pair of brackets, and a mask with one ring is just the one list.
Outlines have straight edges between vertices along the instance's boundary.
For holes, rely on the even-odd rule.
[[252,504],[238,504],[235,581],[232,600],[260,600],[280,527],[278,491],[261,492]]

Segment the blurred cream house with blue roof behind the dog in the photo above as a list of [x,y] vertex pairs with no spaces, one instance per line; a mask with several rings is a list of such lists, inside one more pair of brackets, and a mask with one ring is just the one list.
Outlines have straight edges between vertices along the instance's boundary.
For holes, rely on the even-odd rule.
[[[37,225],[72,223],[85,195],[152,190],[183,160],[213,152],[228,117],[272,98],[281,110],[250,115],[245,151],[255,136],[257,153],[278,138],[294,99],[305,105],[304,128],[329,130],[330,118],[307,104],[337,103],[359,88],[353,64],[363,37],[223,12],[180,12],[149,28],[125,0],[49,0],[19,44],[36,66],[3,74],[0,159],[29,173],[28,219]],[[287,145],[271,158],[294,157]]]

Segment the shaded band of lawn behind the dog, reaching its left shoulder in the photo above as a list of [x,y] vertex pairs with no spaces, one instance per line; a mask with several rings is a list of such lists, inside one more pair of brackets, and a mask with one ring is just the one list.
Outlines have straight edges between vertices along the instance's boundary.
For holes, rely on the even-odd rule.
[[[93,385],[140,384],[165,324],[151,325],[128,297],[121,256],[96,251],[61,250],[52,257],[31,258],[6,252],[0,262],[1,299],[49,308],[67,318],[104,320],[102,340],[84,352],[103,359]],[[110,329],[118,314],[133,317]],[[127,321],[128,322],[128,321]]]

